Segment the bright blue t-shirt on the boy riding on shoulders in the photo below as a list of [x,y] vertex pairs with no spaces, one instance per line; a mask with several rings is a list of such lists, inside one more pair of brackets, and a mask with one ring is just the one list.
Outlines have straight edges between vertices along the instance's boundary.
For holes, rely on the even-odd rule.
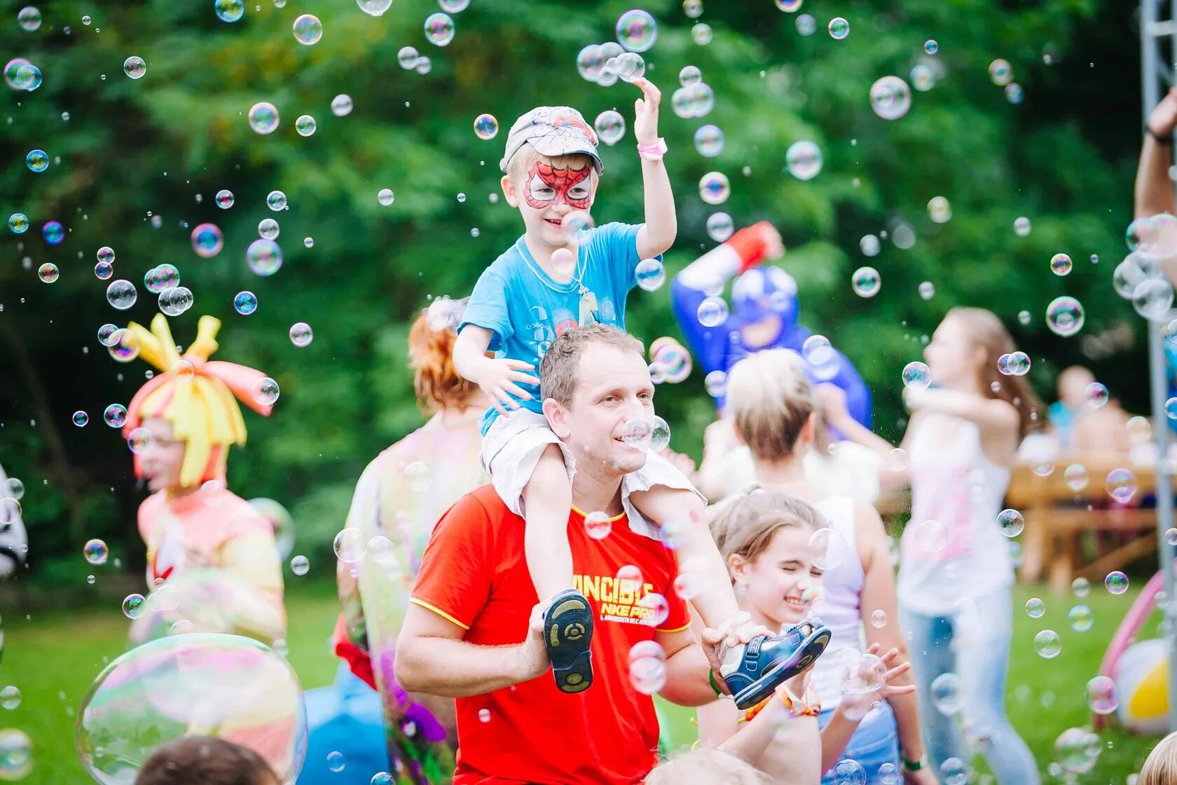
[[[640,224],[605,224],[581,232],[577,272],[567,284],[545,273],[520,237],[478,278],[458,331],[466,325],[490,330],[491,351],[530,362],[536,370],[528,373],[538,377],[544,353],[565,331],[594,321],[625,330],[625,298],[638,282],[640,228]],[[539,387],[519,386],[532,394],[519,404],[541,412]],[[486,410],[484,434],[497,417],[494,408]]]

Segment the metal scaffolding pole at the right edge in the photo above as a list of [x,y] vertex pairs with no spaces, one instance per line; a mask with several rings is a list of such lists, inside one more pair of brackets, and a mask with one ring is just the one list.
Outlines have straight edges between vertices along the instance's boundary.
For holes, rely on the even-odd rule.
[[[1169,6],[1168,19],[1161,14]],[[1144,100],[1143,119],[1157,105],[1164,92],[1175,84],[1177,55],[1173,36],[1177,34],[1177,0],[1141,1],[1141,93]],[[1162,56],[1166,46],[1170,58]],[[1170,313],[1169,318],[1175,314]],[[1165,324],[1149,322],[1149,388],[1152,397],[1152,435],[1157,446],[1157,557],[1165,580],[1165,601],[1162,610],[1168,623],[1170,639],[1177,638],[1177,596],[1175,596],[1173,546],[1169,545],[1165,532],[1173,527],[1172,466],[1169,461],[1169,419],[1165,400],[1169,395],[1164,350]],[[1177,651],[1169,652],[1169,730],[1177,731]]]

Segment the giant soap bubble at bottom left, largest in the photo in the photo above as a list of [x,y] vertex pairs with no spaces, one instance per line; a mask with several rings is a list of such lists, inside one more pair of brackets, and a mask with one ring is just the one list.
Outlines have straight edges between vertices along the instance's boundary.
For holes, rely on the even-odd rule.
[[152,751],[184,736],[250,747],[293,783],[306,757],[302,687],[290,664],[250,638],[188,633],[128,651],[82,700],[74,744],[100,785],[131,785]]

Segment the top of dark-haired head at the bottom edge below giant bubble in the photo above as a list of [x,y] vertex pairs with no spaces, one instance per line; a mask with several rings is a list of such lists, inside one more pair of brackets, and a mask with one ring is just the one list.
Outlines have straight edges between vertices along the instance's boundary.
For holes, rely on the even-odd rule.
[[215,736],[185,736],[160,745],[139,767],[135,785],[280,785],[253,750]]

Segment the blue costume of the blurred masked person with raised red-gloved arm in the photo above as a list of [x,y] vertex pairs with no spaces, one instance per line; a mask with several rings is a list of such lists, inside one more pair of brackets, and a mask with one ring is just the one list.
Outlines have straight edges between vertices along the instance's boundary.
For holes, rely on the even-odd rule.
[[[812,334],[797,324],[796,287],[793,291],[787,291],[774,286],[771,277],[759,275],[760,272],[760,268],[752,268],[745,275],[756,273],[764,279],[758,286],[764,297],[751,298],[746,293],[737,297],[733,287],[732,300],[736,307],[727,319],[714,327],[705,327],[699,322],[699,305],[707,297],[706,292],[687,286],[683,282],[681,275],[676,275],[671,281],[671,306],[674,319],[683,332],[687,348],[704,373],[712,371],[727,373],[745,355],[765,348],[790,348],[800,353],[805,339]],[[740,328],[771,315],[780,318],[782,327],[777,337],[765,346],[745,344]],[[846,411],[858,423],[867,428],[871,427],[871,391],[845,354],[834,350],[830,361],[820,366],[806,364],[806,370],[812,382],[830,382],[845,391]],[[716,406],[723,408],[724,400],[724,394],[720,393],[716,398]]]

